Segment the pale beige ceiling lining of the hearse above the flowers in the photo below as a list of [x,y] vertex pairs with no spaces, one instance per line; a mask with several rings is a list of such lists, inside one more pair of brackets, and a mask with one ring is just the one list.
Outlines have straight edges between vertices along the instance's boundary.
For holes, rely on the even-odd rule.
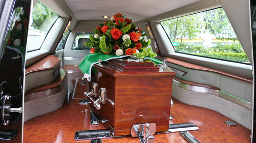
[[[105,20],[102,16],[123,13],[133,22],[153,17],[199,0],[65,0],[77,21]],[[109,19],[110,19],[109,17]]]

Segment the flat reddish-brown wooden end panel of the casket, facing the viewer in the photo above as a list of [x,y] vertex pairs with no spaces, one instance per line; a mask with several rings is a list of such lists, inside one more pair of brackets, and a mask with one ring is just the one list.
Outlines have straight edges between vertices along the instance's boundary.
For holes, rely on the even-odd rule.
[[133,124],[156,123],[167,131],[173,76],[116,77],[115,135],[131,134]]

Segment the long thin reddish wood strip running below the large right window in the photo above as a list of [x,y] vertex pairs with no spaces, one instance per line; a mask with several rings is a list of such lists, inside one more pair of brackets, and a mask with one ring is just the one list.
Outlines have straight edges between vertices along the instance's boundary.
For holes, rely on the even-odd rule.
[[225,75],[225,76],[229,76],[229,77],[232,77],[232,78],[236,78],[236,79],[239,79],[239,80],[243,80],[243,81],[252,83],[252,78],[248,78],[248,77],[244,77],[244,76],[237,75],[237,74],[232,74],[232,73],[228,73],[228,72],[224,72],[224,71],[220,71],[220,70],[216,70],[216,69],[211,69],[211,68],[195,65],[195,64],[183,62],[183,61],[168,58],[168,57],[165,57],[165,59],[167,59],[167,62],[169,62],[169,63],[175,64],[175,65],[178,65],[178,66],[182,66],[184,68],[214,72],[214,73],[222,74],[222,75]]

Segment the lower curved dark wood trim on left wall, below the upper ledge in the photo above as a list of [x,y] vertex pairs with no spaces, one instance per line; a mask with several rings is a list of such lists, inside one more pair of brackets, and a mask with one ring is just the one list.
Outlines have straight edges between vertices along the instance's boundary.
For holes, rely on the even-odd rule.
[[[60,69],[63,70],[63,69]],[[45,91],[45,90],[51,90],[54,88],[58,88],[59,86],[61,87],[61,89],[63,88],[63,82],[65,81],[65,79],[67,78],[67,71],[63,70],[63,72],[61,72],[61,74],[58,75],[58,77],[50,84],[47,85],[42,85],[40,87],[36,87],[33,88],[31,90],[28,90],[25,92],[25,96],[30,95],[31,93],[36,93],[36,92],[40,92],[40,91]]]

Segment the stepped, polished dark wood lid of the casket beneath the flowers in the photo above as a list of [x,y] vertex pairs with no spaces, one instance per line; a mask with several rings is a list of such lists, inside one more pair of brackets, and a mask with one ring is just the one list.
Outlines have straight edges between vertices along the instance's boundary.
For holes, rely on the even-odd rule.
[[175,72],[168,67],[161,70],[153,62],[128,62],[127,59],[112,59],[101,64],[95,64],[94,67],[115,77],[175,75]]

